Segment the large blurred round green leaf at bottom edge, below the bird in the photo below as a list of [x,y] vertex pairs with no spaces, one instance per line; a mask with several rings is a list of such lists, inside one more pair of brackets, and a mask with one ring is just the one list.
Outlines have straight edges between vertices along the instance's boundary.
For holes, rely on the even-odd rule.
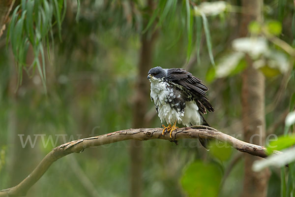
[[216,197],[221,178],[217,164],[204,164],[199,160],[185,169],[180,182],[189,197]]

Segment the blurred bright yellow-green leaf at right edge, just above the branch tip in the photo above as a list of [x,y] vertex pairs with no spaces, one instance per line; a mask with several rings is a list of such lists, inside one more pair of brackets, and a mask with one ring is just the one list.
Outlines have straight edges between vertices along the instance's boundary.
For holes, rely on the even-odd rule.
[[283,150],[295,144],[295,135],[283,135],[277,140],[271,141],[266,149],[267,154],[272,154],[274,150]]

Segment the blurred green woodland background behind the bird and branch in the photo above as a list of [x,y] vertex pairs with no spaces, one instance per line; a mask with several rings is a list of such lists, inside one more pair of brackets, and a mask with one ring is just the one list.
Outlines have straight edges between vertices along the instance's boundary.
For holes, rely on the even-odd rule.
[[[12,11],[22,2],[17,0]],[[294,50],[293,1],[264,1],[263,21],[252,22],[248,29],[248,37],[259,37],[254,44],[236,39],[244,14],[241,0],[66,0],[66,7],[62,0],[48,2],[55,14],[52,28],[41,34],[44,63],[26,40],[29,34],[20,34],[19,42],[30,43],[25,57],[13,52],[17,30],[0,37],[0,189],[22,181],[59,144],[132,127],[160,127],[148,95],[147,72],[141,74],[154,66],[184,67],[201,78],[215,108],[206,115],[207,122],[243,139],[241,72],[247,66],[244,54],[254,51],[253,59],[266,76],[266,134],[283,134],[284,119],[293,110],[294,54],[271,38]],[[62,17],[56,13],[64,13],[64,19],[59,21]],[[32,18],[37,21],[36,16]],[[37,30],[37,23],[33,25]],[[145,51],[143,45],[150,48]],[[142,68],[141,63],[149,61],[145,58],[150,64]],[[36,59],[45,65],[47,93],[45,75],[40,77],[37,64],[29,67]],[[142,125],[135,123],[139,83],[146,88]],[[28,140],[24,147],[21,139]],[[143,197],[242,195],[244,154],[233,148],[213,146],[206,151],[197,139],[180,140],[178,145],[149,140],[141,146],[138,181]],[[28,196],[131,196],[130,166],[137,165],[131,147],[136,148],[123,141],[61,158]],[[280,169],[270,170],[267,196],[277,197]]]

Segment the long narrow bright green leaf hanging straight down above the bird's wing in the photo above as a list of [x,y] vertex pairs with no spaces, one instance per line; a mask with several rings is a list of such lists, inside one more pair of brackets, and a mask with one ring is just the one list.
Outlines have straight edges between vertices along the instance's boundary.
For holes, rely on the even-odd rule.
[[186,7],[186,31],[187,31],[187,52],[186,52],[186,62],[189,61],[190,55],[192,53],[192,39],[193,39],[193,20],[191,15],[191,9],[189,6],[189,0],[185,0]]

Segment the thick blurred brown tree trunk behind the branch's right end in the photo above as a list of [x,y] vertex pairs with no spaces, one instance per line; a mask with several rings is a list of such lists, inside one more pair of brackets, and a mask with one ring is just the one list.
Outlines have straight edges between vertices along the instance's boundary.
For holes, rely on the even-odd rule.
[[[248,25],[252,20],[262,17],[263,0],[242,0],[240,36],[248,34]],[[247,68],[242,73],[242,117],[244,140],[263,145],[266,139],[265,121],[265,77],[253,67],[253,61],[246,57]],[[269,170],[252,171],[252,164],[260,158],[245,155],[244,189],[242,197],[266,197]]]

